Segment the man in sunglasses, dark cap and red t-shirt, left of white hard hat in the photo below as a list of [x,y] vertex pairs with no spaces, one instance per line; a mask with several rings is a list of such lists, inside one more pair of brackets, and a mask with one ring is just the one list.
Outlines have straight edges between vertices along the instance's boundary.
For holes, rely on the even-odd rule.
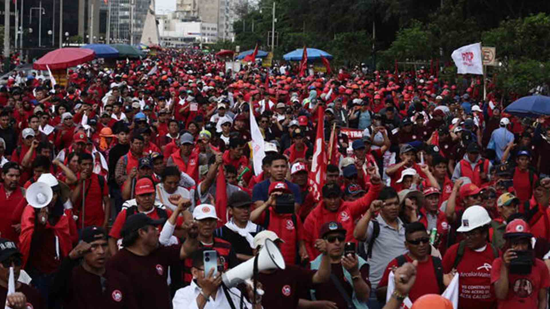
[[422,223],[412,222],[406,225],[405,247],[408,252],[394,258],[386,267],[376,288],[378,298],[386,299],[389,272],[412,261],[418,261],[416,271],[422,274],[422,280],[417,280],[412,285],[409,291],[410,300],[414,302],[422,295],[443,293],[445,286],[453,279],[454,273],[443,274],[441,259],[430,255],[430,237]]

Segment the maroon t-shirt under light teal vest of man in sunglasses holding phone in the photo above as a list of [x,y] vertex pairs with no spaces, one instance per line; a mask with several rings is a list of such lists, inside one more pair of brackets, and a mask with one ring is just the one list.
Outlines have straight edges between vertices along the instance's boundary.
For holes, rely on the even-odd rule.
[[[340,284],[342,284],[342,287],[346,291],[346,294],[348,294],[349,298],[351,299],[351,296],[353,295],[353,286],[351,286],[351,283],[349,283],[348,280],[345,279],[342,264],[331,264],[331,268],[332,274],[334,274],[336,278],[338,278]],[[365,280],[367,285],[371,286],[370,281],[368,280],[368,264],[364,264],[363,267],[359,269],[359,272],[361,273],[361,277],[363,278],[363,280]],[[336,306],[338,308],[348,307],[348,303],[345,301],[344,297],[342,297],[342,294],[340,294],[332,280],[328,280],[328,282],[315,285],[315,299],[333,301],[336,303]]]

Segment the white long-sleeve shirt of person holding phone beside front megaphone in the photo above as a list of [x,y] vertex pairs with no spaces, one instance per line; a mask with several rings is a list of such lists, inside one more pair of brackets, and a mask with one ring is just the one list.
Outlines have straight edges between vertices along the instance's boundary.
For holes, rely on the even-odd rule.
[[[179,289],[175,295],[174,299],[172,300],[172,305],[174,306],[174,309],[199,309],[199,306],[197,306],[197,296],[201,293],[201,288],[199,288],[198,285],[196,285],[195,281],[191,281],[191,284],[188,286],[185,286],[183,289]],[[229,289],[229,295],[231,299],[233,300],[233,304],[236,308],[240,308],[240,290],[237,288],[231,288]],[[246,298],[243,297],[243,308],[252,308],[252,305],[250,302],[246,300]],[[208,297],[208,301],[206,302],[206,305],[204,309],[229,309],[231,306],[229,305],[229,301],[227,300],[226,294],[223,293],[223,289],[221,286],[218,288],[218,291],[216,292],[216,299],[212,299],[212,296]]]

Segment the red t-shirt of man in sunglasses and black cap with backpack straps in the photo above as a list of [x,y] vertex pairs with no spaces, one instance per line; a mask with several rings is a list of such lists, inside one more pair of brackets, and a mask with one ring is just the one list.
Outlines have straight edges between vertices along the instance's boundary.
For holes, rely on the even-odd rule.
[[[408,254],[405,255],[407,262],[412,263],[412,258]],[[389,262],[388,267],[382,275],[382,279],[378,283],[378,287],[388,286],[388,275],[392,271],[393,267],[397,266],[397,260],[394,258]],[[418,297],[426,294],[441,294],[439,291],[439,285],[437,284],[436,273],[433,268],[432,257],[428,256],[425,262],[419,262],[416,267],[416,272],[422,274],[422,280],[416,280],[412,289],[409,291],[409,298],[414,302]]]

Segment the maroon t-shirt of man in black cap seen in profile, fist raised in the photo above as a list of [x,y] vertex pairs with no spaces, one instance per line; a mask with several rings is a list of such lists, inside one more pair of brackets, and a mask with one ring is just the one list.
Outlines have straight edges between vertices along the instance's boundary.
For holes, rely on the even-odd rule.
[[134,309],[171,308],[166,280],[168,266],[181,263],[179,251],[179,245],[159,247],[148,256],[138,256],[127,249],[118,251],[106,267],[112,303],[131,302],[135,305],[127,308]]

